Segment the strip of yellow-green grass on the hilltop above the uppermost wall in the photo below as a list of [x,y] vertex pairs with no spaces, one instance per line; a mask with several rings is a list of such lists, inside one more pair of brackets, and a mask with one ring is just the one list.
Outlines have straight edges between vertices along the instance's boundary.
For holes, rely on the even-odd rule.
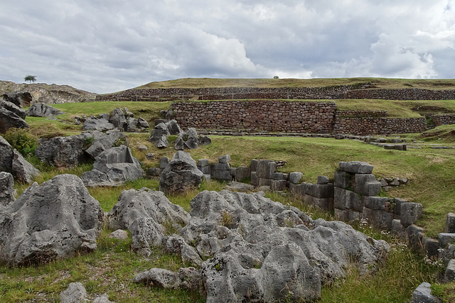
[[137,89],[201,88],[201,87],[328,87],[363,85],[381,89],[455,89],[455,79],[390,79],[390,78],[319,78],[319,79],[214,79],[184,78],[150,82]]

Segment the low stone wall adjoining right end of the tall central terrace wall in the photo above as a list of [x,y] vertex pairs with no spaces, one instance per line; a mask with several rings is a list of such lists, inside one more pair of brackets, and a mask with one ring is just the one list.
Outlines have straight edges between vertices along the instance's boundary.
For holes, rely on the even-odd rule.
[[392,133],[420,133],[427,130],[425,118],[351,118],[336,116],[333,133],[350,133],[357,136],[382,135]]

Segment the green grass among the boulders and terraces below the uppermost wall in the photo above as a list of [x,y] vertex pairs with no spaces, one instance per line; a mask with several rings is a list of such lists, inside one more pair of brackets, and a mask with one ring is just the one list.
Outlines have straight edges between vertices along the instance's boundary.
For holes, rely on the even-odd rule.
[[[350,109],[350,106],[358,109],[355,103],[359,101],[340,102],[346,102],[343,105],[340,103],[342,109]],[[440,102],[440,106],[452,109],[450,102],[428,102]],[[368,105],[358,103],[369,110],[372,110],[370,106],[378,104],[380,102],[374,100]],[[415,106],[414,101],[397,101],[397,104],[405,104],[401,107],[403,110]],[[159,111],[167,109],[169,105],[166,102],[55,104],[56,108],[67,114],[58,116],[57,121],[31,117],[27,117],[27,121],[31,126],[30,133],[50,138],[80,133],[81,126],[71,124],[74,116],[97,115],[126,106],[135,116],[142,116],[151,123],[159,116]],[[400,107],[397,107],[397,112],[399,111]],[[155,148],[146,141],[148,137],[147,133],[127,134],[134,156],[144,162],[144,167],[158,166],[158,160],[162,156],[171,158],[175,150]],[[339,161],[369,162],[374,165],[373,173],[377,176],[405,177],[410,180],[408,185],[393,189],[387,196],[421,203],[424,206],[424,217],[417,224],[423,226],[429,236],[437,236],[444,228],[446,213],[455,212],[455,149],[432,149],[431,144],[455,146],[455,126],[441,126],[423,134],[407,134],[402,137],[409,141],[417,140],[418,144],[422,144],[419,145],[422,148],[400,152],[357,141],[336,141],[331,138],[212,136],[211,145],[191,150],[191,155],[196,160],[207,158],[210,162],[216,162],[220,155],[229,154],[232,167],[249,165],[252,158],[285,160],[287,165],[282,167],[281,171],[303,172],[306,182],[316,182],[318,175],[333,177]],[[173,137],[171,139],[175,140]],[[146,145],[149,150],[139,151],[139,144]],[[155,158],[146,160],[146,153],[154,153]],[[37,164],[36,159],[31,161]],[[38,167],[42,171],[36,179],[38,183],[60,173],[68,172],[80,176],[82,172],[92,169],[90,164],[70,170],[55,170],[45,165]],[[168,198],[189,211],[190,200],[199,190],[220,190],[224,185],[222,182],[206,182],[198,190]],[[158,189],[158,180],[141,179],[115,188],[95,187],[90,189],[90,194],[100,201],[105,211],[109,211],[117,203],[123,189],[141,187]],[[20,194],[26,186],[16,184],[16,189]],[[271,193],[267,194],[267,197],[298,206],[314,218],[332,218],[331,214],[301,206],[298,200],[289,196]],[[392,251],[375,275],[360,276],[354,268],[346,269],[346,279],[323,288],[321,302],[409,302],[412,291],[421,282],[437,280],[437,274],[442,270],[438,264],[425,261],[423,256],[412,253],[388,233],[374,231],[358,223],[355,226],[374,238],[390,241]],[[161,248],[155,248],[150,258],[141,258],[132,252],[131,239],[112,240],[107,238],[109,232],[111,231],[105,228],[98,240],[98,250],[90,255],[76,255],[68,260],[57,260],[30,268],[8,268],[0,265],[0,301],[58,302],[58,293],[65,290],[70,282],[79,281],[85,285],[92,299],[95,294],[107,292],[109,299],[114,302],[204,302],[201,294],[134,284],[132,277],[137,272],[154,267],[176,270],[188,264],[182,264],[177,255],[163,253]],[[439,292],[451,292],[453,289],[453,285],[438,287]]]

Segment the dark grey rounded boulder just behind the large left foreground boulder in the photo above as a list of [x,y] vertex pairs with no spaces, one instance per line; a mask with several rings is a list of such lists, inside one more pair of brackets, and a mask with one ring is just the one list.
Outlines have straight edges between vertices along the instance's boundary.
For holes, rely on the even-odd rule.
[[48,165],[73,167],[89,159],[84,150],[92,143],[92,138],[91,133],[51,138],[36,148],[35,155]]

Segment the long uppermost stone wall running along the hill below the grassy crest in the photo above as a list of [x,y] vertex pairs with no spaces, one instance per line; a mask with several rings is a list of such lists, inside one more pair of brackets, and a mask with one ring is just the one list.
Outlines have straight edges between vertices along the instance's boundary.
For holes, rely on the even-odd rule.
[[367,83],[331,87],[206,87],[198,89],[128,89],[103,94],[96,101],[175,101],[221,99],[388,99],[452,100],[455,90],[366,89]]

